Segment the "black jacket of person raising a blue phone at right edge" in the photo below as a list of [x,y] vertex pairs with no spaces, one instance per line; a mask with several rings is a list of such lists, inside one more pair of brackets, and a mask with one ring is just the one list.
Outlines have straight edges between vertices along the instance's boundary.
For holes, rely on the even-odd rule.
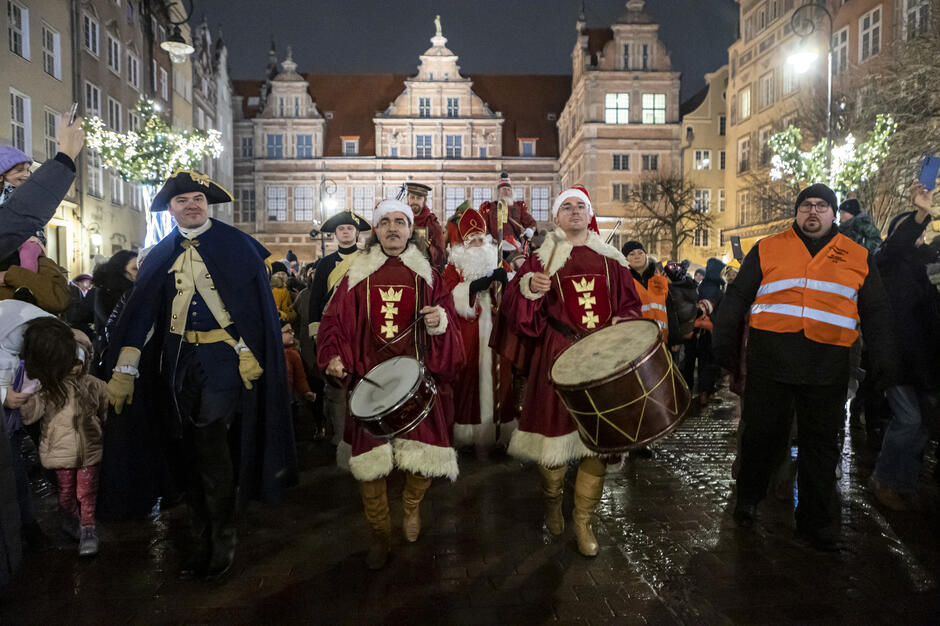
[[[899,382],[922,389],[940,388],[940,292],[927,278],[926,266],[940,261],[929,246],[915,242],[930,220],[902,220],[875,254],[894,313],[894,332],[904,368]],[[865,336],[868,340],[868,335]]]

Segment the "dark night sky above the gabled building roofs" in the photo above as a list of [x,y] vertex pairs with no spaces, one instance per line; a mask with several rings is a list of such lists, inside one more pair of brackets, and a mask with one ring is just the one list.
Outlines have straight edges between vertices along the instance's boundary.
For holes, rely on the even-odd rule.
[[[221,27],[233,78],[261,78],[273,36],[278,58],[293,47],[300,72],[416,71],[440,14],[463,74],[570,74],[580,0],[195,0]],[[623,0],[590,0],[588,26],[609,26]],[[276,7],[276,9],[275,9]],[[737,32],[734,0],[648,0],[660,36],[682,72],[682,98],[705,72],[728,62]]]

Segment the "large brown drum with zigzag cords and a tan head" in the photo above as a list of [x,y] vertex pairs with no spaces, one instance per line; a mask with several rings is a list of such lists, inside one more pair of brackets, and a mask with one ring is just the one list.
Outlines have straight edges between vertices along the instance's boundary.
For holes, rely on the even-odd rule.
[[691,402],[652,320],[621,322],[575,342],[555,359],[551,378],[584,445],[605,454],[665,436]]

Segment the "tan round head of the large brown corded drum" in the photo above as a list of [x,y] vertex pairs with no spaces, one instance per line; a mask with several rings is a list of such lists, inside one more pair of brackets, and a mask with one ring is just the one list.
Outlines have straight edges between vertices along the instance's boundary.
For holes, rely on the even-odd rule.
[[630,320],[608,326],[576,341],[558,355],[552,366],[552,382],[577,386],[622,372],[659,338],[652,320]]

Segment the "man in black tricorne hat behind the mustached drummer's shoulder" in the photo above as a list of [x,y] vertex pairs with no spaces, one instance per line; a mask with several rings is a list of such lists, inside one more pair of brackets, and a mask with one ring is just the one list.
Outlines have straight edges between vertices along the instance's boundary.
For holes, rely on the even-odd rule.
[[[320,329],[323,310],[326,308],[326,303],[330,301],[330,296],[333,295],[333,289],[346,275],[349,266],[359,254],[359,247],[356,245],[359,234],[371,230],[372,226],[368,221],[348,210],[340,211],[326,220],[320,228],[321,233],[333,233],[337,250],[320,259],[317,271],[313,275],[313,283],[310,285],[308,332],[314,341]],[[346,423],[346,390],[327,381],[323,388],[323,395],[323,411],[333,424],[331,441],[336,446],[343,439],[343,425]]]

